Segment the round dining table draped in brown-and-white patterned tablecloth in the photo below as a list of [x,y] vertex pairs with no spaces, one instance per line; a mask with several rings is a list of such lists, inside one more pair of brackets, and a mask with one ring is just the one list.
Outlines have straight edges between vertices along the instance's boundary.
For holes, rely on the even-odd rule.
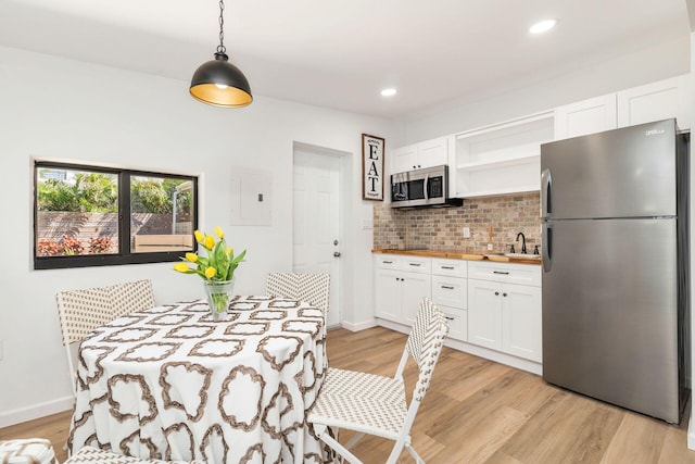
[[237,296],[132,312],[79,346],[68,449],[207,463],[323,463],[305,417],[328,368],[324,312]]

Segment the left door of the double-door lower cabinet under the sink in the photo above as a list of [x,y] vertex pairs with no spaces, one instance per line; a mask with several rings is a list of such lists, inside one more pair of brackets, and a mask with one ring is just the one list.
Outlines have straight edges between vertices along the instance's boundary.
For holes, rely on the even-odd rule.
[[502,284],[468,279],[468,342],[502,350]]

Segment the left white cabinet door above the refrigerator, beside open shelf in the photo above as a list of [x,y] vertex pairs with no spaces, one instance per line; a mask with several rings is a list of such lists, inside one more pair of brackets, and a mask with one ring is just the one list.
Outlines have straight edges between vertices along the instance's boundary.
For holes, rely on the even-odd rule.
[[615,129],[616,95],[609,93],[555,109],[555,139]]

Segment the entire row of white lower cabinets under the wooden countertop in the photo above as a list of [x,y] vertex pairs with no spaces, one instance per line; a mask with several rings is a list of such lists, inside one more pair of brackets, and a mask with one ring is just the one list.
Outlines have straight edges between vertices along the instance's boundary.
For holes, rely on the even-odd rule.
[[541,266],[375,254],[375,276],[376,317],[409,328],[431,298],[458,349],[521,368],[541,363]]

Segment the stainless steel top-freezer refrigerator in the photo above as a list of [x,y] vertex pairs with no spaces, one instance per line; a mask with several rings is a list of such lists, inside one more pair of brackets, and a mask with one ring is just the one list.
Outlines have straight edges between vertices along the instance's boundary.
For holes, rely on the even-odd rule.
[[680,423],[688,135],[674,120],[541,147],[543,378]]

